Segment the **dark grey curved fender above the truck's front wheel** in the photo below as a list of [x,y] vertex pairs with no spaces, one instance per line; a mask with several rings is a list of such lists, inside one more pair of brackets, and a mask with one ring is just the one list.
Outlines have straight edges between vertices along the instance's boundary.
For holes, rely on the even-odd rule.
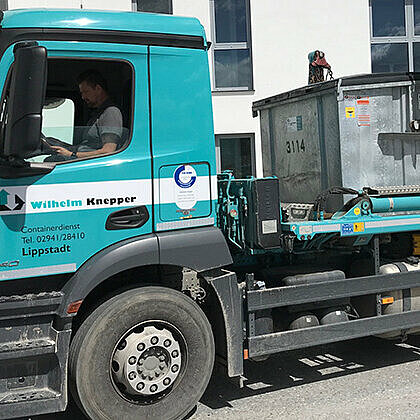
[[[150,274],[161,267],[187,267],[200,273],[231,262],[223,234],[215,227],[127,239],[92,256],[67,281],[60,314],[68,316],[67,308],[71,303],[85,300],[95,290],[107,289],[106,284],[121,279],[126,273]],[[144,283],[145,276],[140,277],[143,280],[140,283]],[[119,285],[116,282],[114,286]]]

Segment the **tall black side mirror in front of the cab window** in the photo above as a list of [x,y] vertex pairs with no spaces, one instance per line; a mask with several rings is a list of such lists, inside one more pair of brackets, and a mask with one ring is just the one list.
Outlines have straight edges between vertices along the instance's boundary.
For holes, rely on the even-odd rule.
[[47,50],[33,41],[19,42],[13,53],[4,154],[25,159],[39,148],[47,88]]

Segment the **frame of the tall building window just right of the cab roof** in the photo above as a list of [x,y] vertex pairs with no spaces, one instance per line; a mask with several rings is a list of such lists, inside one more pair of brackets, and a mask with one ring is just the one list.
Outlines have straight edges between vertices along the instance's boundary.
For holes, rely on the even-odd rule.
[[[252,60],[252,37],[251,37],[251,5],[250,0],[245,1],[245,14],[246,14],[246,42],[217,42],[216,41],[216,8],[215,1],[210,0],[210,31],[212,37],[211,44],[211,59],[213,63],[212,72],[212,91],[213,92],[253,92],[254,91],[254,63]],[[251,67],[251,84],[250,86],[229,86],[229,87],[216,87],[216,61],[215,51],[226,50],[249,50],[249,59]]]

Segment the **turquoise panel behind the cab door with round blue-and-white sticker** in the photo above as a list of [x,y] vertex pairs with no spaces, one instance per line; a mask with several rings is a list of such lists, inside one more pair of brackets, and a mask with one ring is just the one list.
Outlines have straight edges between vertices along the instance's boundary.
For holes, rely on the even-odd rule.
[[207,51],[150,47],[155,229],[215,223],[217,197]]

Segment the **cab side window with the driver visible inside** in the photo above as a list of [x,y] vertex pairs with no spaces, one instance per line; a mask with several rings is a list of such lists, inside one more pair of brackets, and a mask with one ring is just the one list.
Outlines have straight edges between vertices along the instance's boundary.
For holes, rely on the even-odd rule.
[[132,80],[126,62],[49,59],[41,150],[32,160],[62,163],[124,148],[132,121]]

